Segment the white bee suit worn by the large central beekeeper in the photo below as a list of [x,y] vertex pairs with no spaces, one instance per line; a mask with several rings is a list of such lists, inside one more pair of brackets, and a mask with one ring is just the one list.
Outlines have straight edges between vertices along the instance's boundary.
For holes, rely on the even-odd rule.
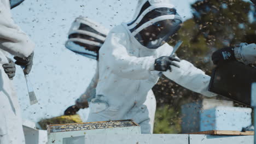
[[[107,35],[100,49],[97,95],[91,100],[88,122],[133,119],[141,125],[142,133],[153,133],[150,111],[155,104],[147,95],[152,93],[151,89],[159,79],[160,71],[154,70],[154,63],[156,58],[170,56],[173,47],[165,43],[158,49],[149,49],[139,43],[135,35],[154,22],[181,20],[177,15],[164,15],[137,27],[143,16],[156,8],[174,7],[170,1],[139,1],[132,23],[122,23]],[[192,91],[208,97],[216,95],[207,91],[210,76],[187,61],[181,61],[179,65],[181,68],[163,74]]]

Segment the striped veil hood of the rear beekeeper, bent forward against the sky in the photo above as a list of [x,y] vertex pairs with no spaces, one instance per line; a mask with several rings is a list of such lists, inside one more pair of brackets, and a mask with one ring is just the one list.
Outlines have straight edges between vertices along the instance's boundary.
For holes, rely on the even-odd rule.
[[78,17],[72,23],[66,42],[67,49],[80,55],[97,59],[109,30],[87,17]]

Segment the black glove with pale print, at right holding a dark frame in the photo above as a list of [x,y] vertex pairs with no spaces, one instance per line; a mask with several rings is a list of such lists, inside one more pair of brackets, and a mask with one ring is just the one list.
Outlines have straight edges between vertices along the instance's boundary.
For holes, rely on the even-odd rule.
[[235,61],[235,53],[234,47],[225,47],[223,49],[219,49],[212,54],[212,62],[214,64],[220,64],[228,61]]

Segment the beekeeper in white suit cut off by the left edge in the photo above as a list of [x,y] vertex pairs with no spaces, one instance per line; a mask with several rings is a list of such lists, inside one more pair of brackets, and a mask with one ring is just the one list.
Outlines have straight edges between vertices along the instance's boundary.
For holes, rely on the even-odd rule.
[[25,67],[25,74],[30,73],[34,44],[15,25],[11,18],[10,8],[22,1],[0,0],[0,143],[25,143],[18,97],[9,80],[8,56],[17,60],[15,63]]

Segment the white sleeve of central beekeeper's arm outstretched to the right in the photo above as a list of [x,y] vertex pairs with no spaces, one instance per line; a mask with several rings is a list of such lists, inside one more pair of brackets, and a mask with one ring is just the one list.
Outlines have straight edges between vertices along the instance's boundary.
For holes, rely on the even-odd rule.
[[193,64],[185,60],[179,62],[179,66],[180,68],[171,66],[172,71],[170,72],[168,70],[163,74],[179,85],[191,91],[203,94],[206,97],[214,97],[217,95],[208,91],[211,77],[206,75],[205,72],[201,69],[197,69]]

